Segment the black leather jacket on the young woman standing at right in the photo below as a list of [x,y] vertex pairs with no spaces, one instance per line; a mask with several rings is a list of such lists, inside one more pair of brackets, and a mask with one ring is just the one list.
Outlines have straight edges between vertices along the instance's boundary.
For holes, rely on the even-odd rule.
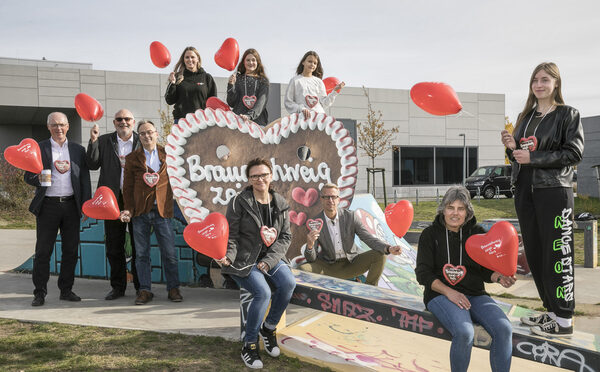
[[[525,123],[531,115],[532,112],[527,113]],[[525,127],[522,123],[513,133],[517,146]],[[558,106],[540,123],[535,136],[537,149],[531,152],[531,163],[523,165],[533,169],[532,187],[572,187],[573,166],[583,157],[583,126],[579,111],[571,106]],[[515,161],[512,150],[507,149],[506,154],[512,164],[511,182],[517,186],[521,165]]]

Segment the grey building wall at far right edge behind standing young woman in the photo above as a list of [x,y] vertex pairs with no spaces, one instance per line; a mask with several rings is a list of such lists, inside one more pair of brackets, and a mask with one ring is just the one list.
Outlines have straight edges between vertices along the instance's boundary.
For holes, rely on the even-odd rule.
[[581,119],[585,136],[583,160],[577,166],[577,194],[598,198],[598,180],[594,165],[600,164],[600,116]]

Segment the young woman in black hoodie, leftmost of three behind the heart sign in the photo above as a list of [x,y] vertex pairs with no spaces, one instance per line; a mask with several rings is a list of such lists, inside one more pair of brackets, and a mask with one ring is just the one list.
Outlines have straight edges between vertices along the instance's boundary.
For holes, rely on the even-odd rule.
[[167,104],[174,105],[175,123],[185,115],[206,108],[206,100],[217,95],[217,86],[212,76],[202,68],[200,53],[187,47],[181,53],[175,70],[169,75],[165,93]]

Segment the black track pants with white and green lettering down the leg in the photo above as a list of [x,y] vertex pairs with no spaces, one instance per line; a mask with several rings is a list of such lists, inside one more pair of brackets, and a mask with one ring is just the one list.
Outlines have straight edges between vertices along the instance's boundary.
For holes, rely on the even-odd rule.
[[532,191],[525,185],[515,190],[515,209],[527,263],[544,307],[571,318],[575,308],[573,189]]

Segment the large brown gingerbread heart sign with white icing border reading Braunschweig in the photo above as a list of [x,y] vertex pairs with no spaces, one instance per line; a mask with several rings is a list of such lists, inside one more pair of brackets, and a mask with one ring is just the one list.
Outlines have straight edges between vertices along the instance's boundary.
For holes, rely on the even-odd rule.
[[225,214],[229,201],[249,185],[248,161],[269,160],[272,186],[290,205],[293,240],[288,257],[297,256],[306,243],[303,225],[321,211],[317,196],[325,183],[339,186],[342,208],[354,196],[354,141],[341,122],[325,114],[293,114],[260,127],[231,111],[198,110],[173,125],[167,142],[169,180],[188,223],[211,212]]

